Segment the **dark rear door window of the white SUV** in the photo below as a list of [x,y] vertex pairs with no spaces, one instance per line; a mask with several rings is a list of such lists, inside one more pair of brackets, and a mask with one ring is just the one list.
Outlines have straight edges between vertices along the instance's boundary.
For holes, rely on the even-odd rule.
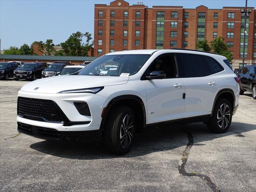
[[180,77],[188,78],[205,76],[204,66],[202,66],[198,55],[178,53],[176,56]]

